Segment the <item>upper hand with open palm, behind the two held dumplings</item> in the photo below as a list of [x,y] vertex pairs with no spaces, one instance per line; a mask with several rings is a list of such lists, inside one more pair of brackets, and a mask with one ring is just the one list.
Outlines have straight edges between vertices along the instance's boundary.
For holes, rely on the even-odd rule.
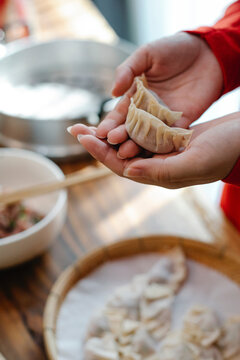
[[[200,37],[178,33],[145,45],[116,72],[113,95],[123,95],[135,76],[145,73],[151,90],[172,109],[182,111],[175,126],[187,128],[221,95],[223,76],[214,54]],[[130,92],[128,92],[130,95]],[[110,112],[97,128],[99,138],[121,144],[120,158],[136,156],[141,149],[129,140],[125,128],[129,100]]]

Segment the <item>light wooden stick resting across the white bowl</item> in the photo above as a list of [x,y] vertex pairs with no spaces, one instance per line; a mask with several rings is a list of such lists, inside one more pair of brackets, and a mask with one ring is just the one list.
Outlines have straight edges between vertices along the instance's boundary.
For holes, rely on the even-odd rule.
[[74,172],[70,175],[65,176],[63,180],[52,181],[44,184],[33,185],[28,188],[4,193],[0,195],[0,205],[12,204],[29,197],[39,196],[47,194],[53,191],[62,190],[64,188],[83,184],[88,181],[96,180],[101,177],[112,174],[108,168],[94,169],[89,173],[82,173],[82,171]]

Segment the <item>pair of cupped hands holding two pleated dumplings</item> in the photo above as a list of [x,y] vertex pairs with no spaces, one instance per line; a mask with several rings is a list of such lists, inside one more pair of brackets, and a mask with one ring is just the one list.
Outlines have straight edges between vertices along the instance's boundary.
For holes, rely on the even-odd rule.
[[75,125],[71,134],[81,136],[79,141],[97,160],[138,182],[179,188],[226,177],[240,155],[239,113],[193,126],[192,140],[180,153],[146,154],[128,138],[124,123],[131,86],[143,72],[150,89],[172,110],[183,111],[174,126],[188,127],[222,92],[222,72],[210,48],[200,38],[180,33],[127,59],[117,70],[113,88],[115,96],[127,94],[97,129]]

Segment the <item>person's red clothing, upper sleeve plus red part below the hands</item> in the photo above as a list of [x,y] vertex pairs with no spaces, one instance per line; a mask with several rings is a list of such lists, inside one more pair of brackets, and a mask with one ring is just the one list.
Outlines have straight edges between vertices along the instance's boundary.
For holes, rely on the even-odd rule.
[[[240,0],[230,5],[224,17],[213,27],[200,27],[188,32],[201,36],[216,56],[223,72],[222,93],[240,86]],[[240,231],[240,158],[223,181],[227,184],[224,186],[221,207]]]

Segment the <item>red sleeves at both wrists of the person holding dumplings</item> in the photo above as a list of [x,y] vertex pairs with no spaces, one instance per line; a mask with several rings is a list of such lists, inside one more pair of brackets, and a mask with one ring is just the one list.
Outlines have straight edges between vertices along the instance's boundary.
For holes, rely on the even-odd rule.
[[[222,94],[238,87],[240,85],[240,0],[229,6],[223,18],[214,26],[204,26],[187,32],[201,36],[216,56],[224,79]],[[240,186],[240,158],[224,182]]]

